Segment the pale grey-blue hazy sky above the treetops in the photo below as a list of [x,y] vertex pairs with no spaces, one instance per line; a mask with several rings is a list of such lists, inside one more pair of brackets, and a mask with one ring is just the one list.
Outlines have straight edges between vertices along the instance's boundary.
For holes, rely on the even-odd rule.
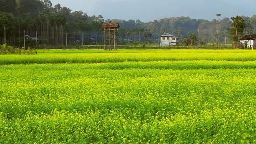
[[255,0],[51,0],[72,11],[82,10],[89,16],[101,14],[104,20],[141,20],[149,22],[160,18],[189,16],[212,20],[232,16],[256,14]]

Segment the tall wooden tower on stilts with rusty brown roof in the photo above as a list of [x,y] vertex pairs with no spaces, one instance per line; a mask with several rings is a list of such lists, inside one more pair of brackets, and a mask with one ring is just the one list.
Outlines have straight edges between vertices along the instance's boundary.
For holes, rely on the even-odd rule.
[[117,47],[117,34],[119,24],[117,22],[103,23],[104,28],[104,50],[116,50]]

